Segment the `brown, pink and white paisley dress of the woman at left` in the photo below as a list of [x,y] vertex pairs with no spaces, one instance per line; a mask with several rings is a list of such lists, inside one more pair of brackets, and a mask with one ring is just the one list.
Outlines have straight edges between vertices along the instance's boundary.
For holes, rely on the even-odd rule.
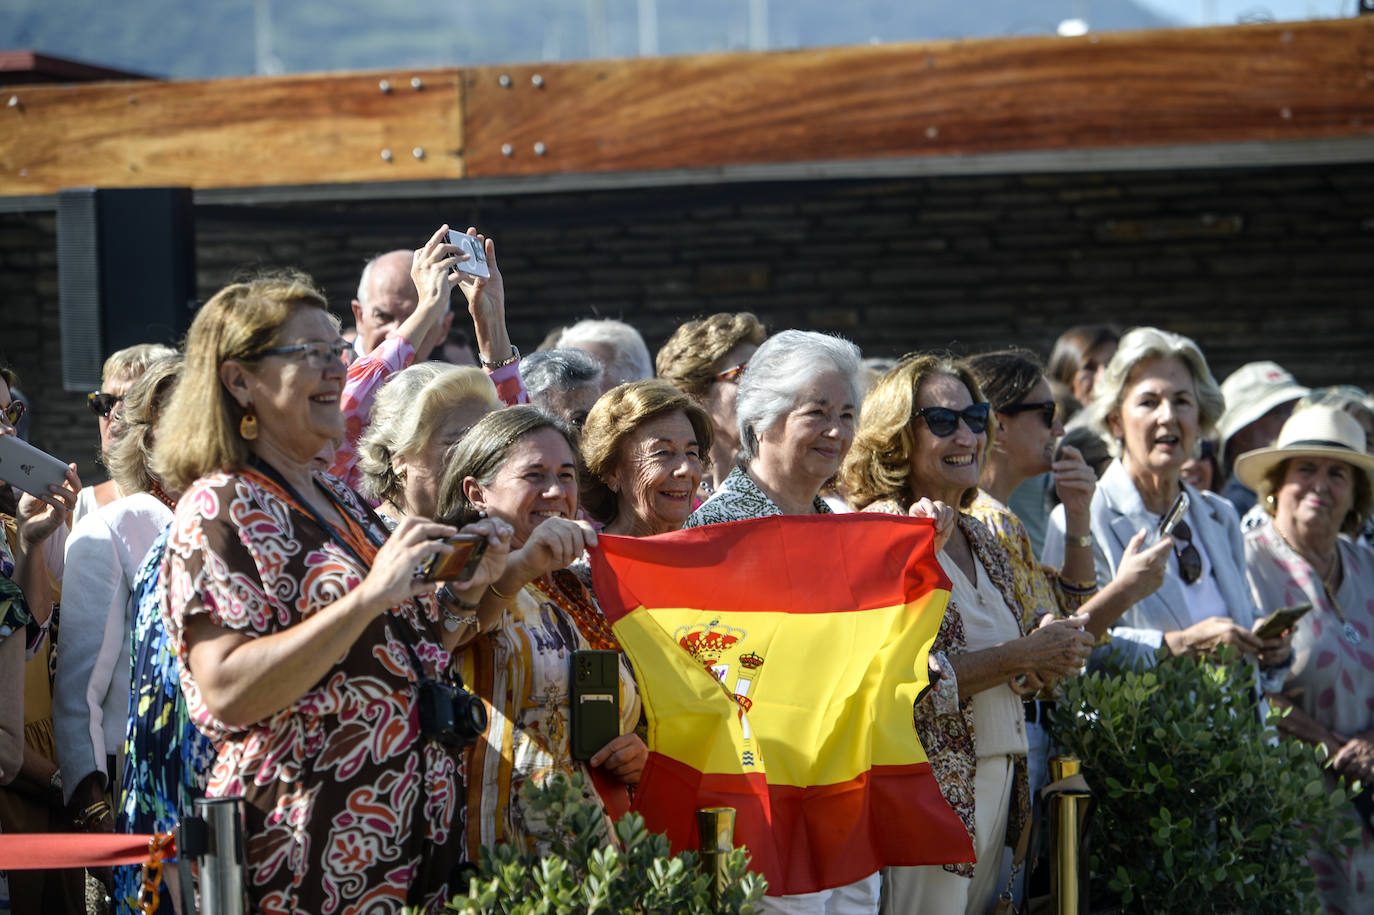
[[462,861],[463,757],[420,736],[418,675],[398,637],[404,628],[429,676],[447,670],[433,602],[381,614],[319,683],[249,727],[216,719],[187,666],[196,617],[261,637],[361,584],[353,552],[368,559],[361,536],[386,533],[338,479],[315,479],[357,528],[322,529],[251,470],[203,477],[177,503],[159,596],[191,720],[218,750],[206,795],[246,801],[254,910],[436,911]]

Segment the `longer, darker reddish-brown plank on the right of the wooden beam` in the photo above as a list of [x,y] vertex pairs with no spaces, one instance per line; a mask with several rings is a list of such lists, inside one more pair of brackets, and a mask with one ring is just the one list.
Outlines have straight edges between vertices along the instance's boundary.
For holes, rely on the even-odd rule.
[[493,66],[463,81],[470,177],[1370,136],[1374,16]]

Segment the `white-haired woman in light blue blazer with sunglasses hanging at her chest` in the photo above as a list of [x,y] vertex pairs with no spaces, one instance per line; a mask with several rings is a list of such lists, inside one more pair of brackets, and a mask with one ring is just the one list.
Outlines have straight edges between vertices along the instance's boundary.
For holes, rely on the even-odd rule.
[[[1187,493],[1189,510],[1173,529],[1175,554],[1164,584],[1121,615],[1110,648],[1128,661],[1153,664],[1161,647],[1195,655],[1230,644],[1259,658],[1265,687],[1271,680],[1278,686],[1289,644],[1252,632],[1259,613],[1245,577],[1239,518],[1228,501],[1182,478],[1198,437],[1215,429],[1223,408],[1197,343],[1154,327],[1128,331],[1088,408],[1116,460],[1092,496],[1092,533],[1074,544],[1092,547],[1098,584],[1106,585],[1132,552],[1136,533],[1156,530],[1179,493]],[[1068,540],[1061,506],[1050,517],[1043,559],[1058,567]]]

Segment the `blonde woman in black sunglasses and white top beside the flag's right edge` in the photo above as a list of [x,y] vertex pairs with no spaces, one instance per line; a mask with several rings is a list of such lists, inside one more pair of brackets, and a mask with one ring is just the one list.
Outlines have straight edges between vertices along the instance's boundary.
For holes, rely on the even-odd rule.
[[[992,429],[991,409],[965,365],[907,357],[874,385],[860,416],[841,473],[856,508],[911,514],[925,499],[967,510]],[[1002,889],[1002,849],[1017,844],[1030,813],[1025,713],[1013,680],[1025,677],[1028,688],[1037,688],[1073,676],[1094,640],[1083,617],[1044,614],[1037,626],[1024,613],[1006,550],[967,511],[959,512],[940,565],[951,598],[930,650],[933,688],[916,703],[915,724],[978,863],[888,868],[883,911],[890,912],[991,908]]]

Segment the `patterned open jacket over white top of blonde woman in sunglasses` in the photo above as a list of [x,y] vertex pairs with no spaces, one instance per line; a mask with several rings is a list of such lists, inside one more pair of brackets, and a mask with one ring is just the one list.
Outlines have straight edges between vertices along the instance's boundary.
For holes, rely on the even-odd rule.
[[[905,508],[893,500],[875,501],[864,511],[881,511],[889,515],[904,515]],[[977,518],[959,512],[959,530],[969,539],[969,545],[978,555],[982,566],[988,570],[988,577],[998,585],[998,591],[1007,602],[1007,607],[1015,610],[1020,606],[1015,585],[1013,584],[1011,561],[991,530]],[[1029,632],[1022,611],[1017,620],[1021,633]],[[959,699],[959,684],[955,680],[954,668],[948,655],[960,654],[967,648],[967,636],[963,629],[963,618],[954,600],[945,609],[940,632],[936,633],[934,644],[930,647],[932,666],[938,666],[940,680],[932,683],[932,690],[925,699],[916,702],[914,717],[916,735],[930,760],[930,769],[940,783],[940,791],[954,812],[963,820],[969,830],[969,839],[977,846],[974,835],[974,776],[978,769],[978,750],[973,732],[973,697]],[[933,679],[934,672],[932,672]],[[1011,782],[1011,811],[1007,816],[1006,844],[1015,846],[1021,837],[1021,830],[1030,822],[1030,779],[1026,769],[1026,757],[1017,756],[1013,764]],[[945,864],[944,868],[960,877],[973,877],[973,864]]]

